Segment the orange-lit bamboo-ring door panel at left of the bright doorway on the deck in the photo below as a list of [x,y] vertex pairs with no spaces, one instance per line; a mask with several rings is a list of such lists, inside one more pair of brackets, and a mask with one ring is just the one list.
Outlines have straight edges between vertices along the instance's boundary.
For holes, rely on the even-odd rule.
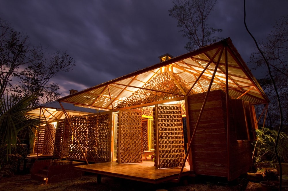
[[119,111],[118,163],[142,163],[141,111]]

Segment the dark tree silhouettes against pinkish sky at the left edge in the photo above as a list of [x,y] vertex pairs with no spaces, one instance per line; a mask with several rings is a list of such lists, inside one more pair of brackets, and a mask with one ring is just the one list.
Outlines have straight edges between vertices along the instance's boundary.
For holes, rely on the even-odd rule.
[[75,61],[66,52],[44,54],[42,46],[30,44],[27,35],[0,18],[0,98],[11,91],[16,98],[37,93],[33,106],[55,100],[60,95],[59,86],[50,79],[74,66]]

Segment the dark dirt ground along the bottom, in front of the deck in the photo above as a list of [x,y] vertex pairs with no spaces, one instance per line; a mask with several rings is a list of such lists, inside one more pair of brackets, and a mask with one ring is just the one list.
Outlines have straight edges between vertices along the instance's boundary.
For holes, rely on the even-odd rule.
[[95,174],[85,174],[80,178],[74,178],[58,183],[44,184],[31,180],[31,175],[14,175],[0,179],[0,190],[168,190],[168,191],[198,191],[198,190],[262,190],[258,182],[249,182],[239,179],[233,183],[221,182],[215,178],[196,177],[181,180],[180,183],[147,184],[144,182],[125,180],[109,176],[102,176],[101,183],[97,184]]

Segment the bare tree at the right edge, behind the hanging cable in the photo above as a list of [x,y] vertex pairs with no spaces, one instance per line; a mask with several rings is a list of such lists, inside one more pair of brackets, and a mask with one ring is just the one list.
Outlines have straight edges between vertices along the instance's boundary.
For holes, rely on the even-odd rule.
[[[283,116],[284,116],[284,125],[288,125],[288,15],[281,17],[279,21],[276,21],[276,24],[273,26],[272,31],[267,36],[265,40],[262,40],[260,43],[261,50],[265,55],[270,71],[274,77],[276,88],[279,92]],[[250,63],[256,64],[254,67],[255,70],[263,70],[266,66],[261,54],[253,52],[250,56]],[[274,93],[274,88],[268,73],[263,79],[258,80],[262,85],[265,93],[268,95],[271,100],[269,104],[269,113],[268,117],[270,118],[271,123],[269,126],[276,126],[278,123],[277,118],[279,115],[278,104],[276,95]],[[287,130],[287,128],[286,128]]]

